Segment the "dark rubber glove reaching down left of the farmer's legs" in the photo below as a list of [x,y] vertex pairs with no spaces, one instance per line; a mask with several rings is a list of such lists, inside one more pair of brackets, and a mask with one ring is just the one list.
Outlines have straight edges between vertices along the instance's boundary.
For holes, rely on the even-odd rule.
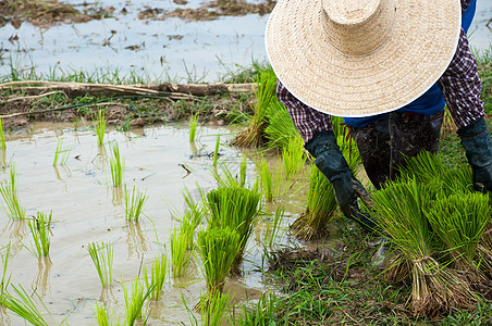
[[305,147],[316,158],[316,166],[333,185],[342,213],[358,222],[365,229],[372,230],[376,224],[367,214],[360,213],[357,204],[358,198],[369,202],[369,195],[348,167],[333,131],[316,134]]

